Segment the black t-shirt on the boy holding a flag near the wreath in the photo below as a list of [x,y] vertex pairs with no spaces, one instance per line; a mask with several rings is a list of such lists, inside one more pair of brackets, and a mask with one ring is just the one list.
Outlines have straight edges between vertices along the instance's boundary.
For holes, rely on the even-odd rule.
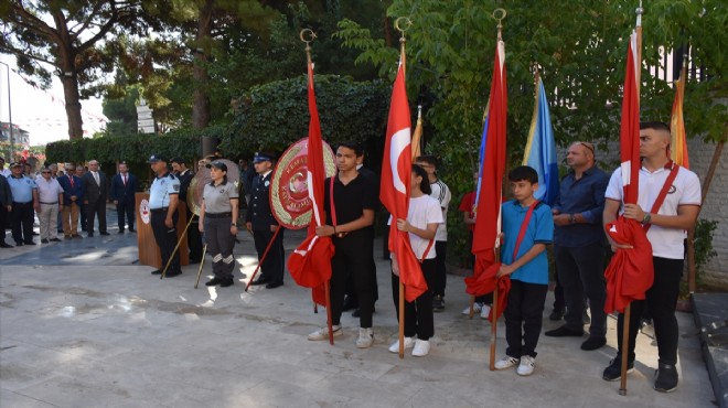
[[[333,179],[333,197],[334,207],[336,210],[336,225],[346,224],[360,218],[364,214],[364,210],[376,210],[378,202],[377,191],[374,182],[370,178],[358,174],[346,185],[344,185],[338,176],[334,176]],[[329,192],[331,189],[330,183],[331,178],[326,179],[323,185],[323,207],[326,212],[326,224],[333,225],[331,201],[329,200]]]

